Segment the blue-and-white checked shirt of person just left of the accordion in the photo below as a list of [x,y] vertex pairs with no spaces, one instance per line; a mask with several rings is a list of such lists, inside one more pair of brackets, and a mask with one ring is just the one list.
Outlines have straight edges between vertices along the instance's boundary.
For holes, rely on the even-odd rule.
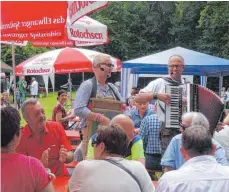
[[141,123],[139,136],[147,154],[161,154],[160,125],[156,114],[145,117]]

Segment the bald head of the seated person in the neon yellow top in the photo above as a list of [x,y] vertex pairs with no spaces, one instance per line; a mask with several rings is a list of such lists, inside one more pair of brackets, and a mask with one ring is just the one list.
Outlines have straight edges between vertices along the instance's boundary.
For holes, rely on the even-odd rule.
[[120,115],[115,116],[111,120],[110,124],[119,125],[126,132],[128,139],[129,140],[133,139],[133,137],[134,137],[134,135],[133,135],[133,133],[134,133],[134,122],[127,115],[120,114]]

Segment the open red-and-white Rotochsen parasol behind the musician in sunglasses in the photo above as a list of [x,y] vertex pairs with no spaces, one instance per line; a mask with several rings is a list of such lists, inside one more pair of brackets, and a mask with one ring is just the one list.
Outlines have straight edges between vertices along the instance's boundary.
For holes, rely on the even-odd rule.
[[[100,52],[63,48],[36,55],[16,66],[17,75],[47,75],[52,73],[66,74],[76,72],[92,72],[93,57]],[[121,61],[111,57],[113,72],[121,70]]]

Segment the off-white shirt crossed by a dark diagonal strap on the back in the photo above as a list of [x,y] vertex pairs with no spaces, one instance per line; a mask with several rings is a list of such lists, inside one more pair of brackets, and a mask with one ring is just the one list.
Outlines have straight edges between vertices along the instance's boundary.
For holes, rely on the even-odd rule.
[[[142,192],[155,188],[145,167],[138,161],[119,159],[125,168],[138,179]],[[123,169],[104,160],[81,161],[69,181],[70,192],[140,192],[137,182]]]

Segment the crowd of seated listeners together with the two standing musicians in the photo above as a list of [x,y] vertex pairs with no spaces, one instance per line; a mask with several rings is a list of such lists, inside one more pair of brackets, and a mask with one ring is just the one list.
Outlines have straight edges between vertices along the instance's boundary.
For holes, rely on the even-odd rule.
[[[165,86],[185,85],[184,59],[171,56],[167,77],[141,90],[133,88],[129,106],[108,118],[102,110],[93,110],[91,98],[125,102],[119,85],[107,83],[113,67],[109,56],[95,56],[94,78],[80,85],[68,112],[67,92],[58,92],[52,121],[36,98],[20,106],[27,123],[22,129],[18,110],[1,107],[2,191],[54,191],[50,172],[71,176],[70,192],[229,191],[229,114],[214,135],[200,112],[184,113],[179,128],[165,124],[165,106],[171,102]],[[19,84],[23,89],[23,79]],[[65,130],[76,117],[82,141],[74,151]],[[94,133],[92,122],[97,126]],[[73,161],[78,164],[70,174],[65,164]],[[152,183],[158,179],[155,172],[163,173],[157,188]]]

